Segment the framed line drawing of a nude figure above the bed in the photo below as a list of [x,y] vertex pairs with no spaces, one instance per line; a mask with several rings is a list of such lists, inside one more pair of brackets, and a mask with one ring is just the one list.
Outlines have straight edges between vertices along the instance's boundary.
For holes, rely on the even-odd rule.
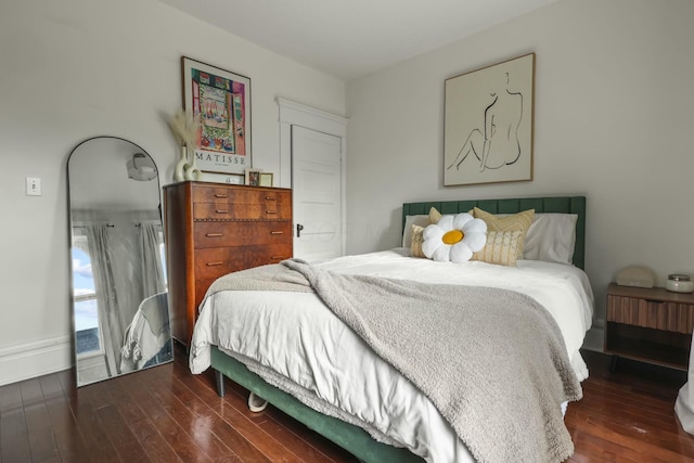
[[445,83],[444,185],[532,180],[535,53]]

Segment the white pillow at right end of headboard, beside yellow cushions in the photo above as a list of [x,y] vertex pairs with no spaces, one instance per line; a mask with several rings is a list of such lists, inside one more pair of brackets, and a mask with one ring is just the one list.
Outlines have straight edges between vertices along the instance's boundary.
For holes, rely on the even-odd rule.
[[536,214],[525,237],[523,258],[573,263],[577,220],[576,214]]

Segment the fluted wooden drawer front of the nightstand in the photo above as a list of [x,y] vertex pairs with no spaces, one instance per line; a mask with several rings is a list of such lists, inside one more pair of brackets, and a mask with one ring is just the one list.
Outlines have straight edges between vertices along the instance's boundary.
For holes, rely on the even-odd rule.
[[691,334],[694,305],[608,295],[607,321]]

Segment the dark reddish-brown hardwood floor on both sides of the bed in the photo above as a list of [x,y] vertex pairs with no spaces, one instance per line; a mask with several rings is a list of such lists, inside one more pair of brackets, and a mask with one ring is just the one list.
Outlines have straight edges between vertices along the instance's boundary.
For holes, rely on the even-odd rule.
[[[176,361],[75,388],[65,371],[0,387],[0,461],[356,462],[346,451],[269,407],[247,410],[243,388],[192,375]],[[569,462],[694,462],[694,436],[673,403],[683,372],[584,352],[591,377],[568,408]]]

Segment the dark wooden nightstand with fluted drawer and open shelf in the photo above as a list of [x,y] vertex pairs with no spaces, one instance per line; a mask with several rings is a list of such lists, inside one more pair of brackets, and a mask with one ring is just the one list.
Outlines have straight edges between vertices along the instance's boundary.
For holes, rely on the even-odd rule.
[[605,352],[642,362],[687,370],[694,295],[663,287],[607,288]]

